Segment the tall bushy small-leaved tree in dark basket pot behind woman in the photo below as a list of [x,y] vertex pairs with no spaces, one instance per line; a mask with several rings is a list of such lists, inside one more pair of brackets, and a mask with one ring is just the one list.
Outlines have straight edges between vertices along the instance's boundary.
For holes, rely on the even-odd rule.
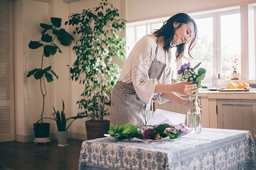
[[117,8],[102,0],[93,10],[71,14],[65,23],[73,25],[73,33],[79,35],[73,47],[77,59],[69,69],[70,78],[85,87],[77,104],[91,118],[86,121],[87,139],[103,137],[110,126],[104,116],[110,114],[111,92],[120,73],[111,61],[125,58],[125,38],[118,35],[125,22],[119,19]]

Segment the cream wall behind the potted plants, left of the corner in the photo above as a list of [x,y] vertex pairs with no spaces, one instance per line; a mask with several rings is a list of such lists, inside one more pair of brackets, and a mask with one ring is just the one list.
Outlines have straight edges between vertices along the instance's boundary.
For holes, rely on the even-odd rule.
[[[14,56],[15,56],[15,128],[16,141],[29,142],[33,138],[33,123],[40,118],[43,97],[40,92],[40,80],[32,76],[26,78],[28,71],[40,68],[42,49],[29,49],[28,43],[38,41],[43,30],[39,24],[51,24],[52,16],[62,18],[62,28],[69,33],[73,28],[64,26],[72,12],[81,12],[83,9],[93,8],[100,1],[86,0],[74,3],[65,3],[63,0],[50,0],[47,2],[18,0],[14,2]],[[110,1],[117,8],[124,6],[124,1]],[[125,10],[123,10],[125,11]],[[123,15],[123,14],[121,14]],[[75,37],[77,40],[77,37]],[[78,82],[69,79],[69,69],[76,56],[72,47],[62,46],[55,41],[62,53],[44,59],[44,67],[49,65],[58,75],[53,82],[47,83],[47,96],[45,97],[44,117],[52,117],[53,107],[62,109],[61,100],[65,102],[66,117],[75,116],[79,112],[76,104],[80,98],[83,87]],[[69,129],[69,137],[86,139],[85,120],[76,120]],[[51,123],[51,136],[56,138],[56,124]]]

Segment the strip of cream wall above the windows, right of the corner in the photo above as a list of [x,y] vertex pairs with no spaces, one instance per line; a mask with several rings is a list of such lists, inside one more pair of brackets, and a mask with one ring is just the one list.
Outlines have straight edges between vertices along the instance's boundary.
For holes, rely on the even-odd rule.
[[178,12],[192,13],[255,2],[255,0],[126,0],[126,19],[128,22],[136,22],[172,16]]

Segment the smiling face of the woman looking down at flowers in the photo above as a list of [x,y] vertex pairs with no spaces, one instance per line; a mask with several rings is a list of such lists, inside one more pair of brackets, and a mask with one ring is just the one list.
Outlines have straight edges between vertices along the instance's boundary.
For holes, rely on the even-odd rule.
[[194,25],[192,22],[188,22],[187,24],[182,24],[181,27],[178,28],[180,23],[175,22],[173,24],[175,33],[173,36],[173,40],[171,41],[174,45],[179,45],[182,43],[186,43],[194,32]]

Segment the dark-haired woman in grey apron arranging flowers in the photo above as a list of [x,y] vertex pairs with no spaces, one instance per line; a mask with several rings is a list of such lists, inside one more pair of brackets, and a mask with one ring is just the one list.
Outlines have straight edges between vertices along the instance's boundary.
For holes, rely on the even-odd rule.
[[175,57],[178,61],[189,43],[188,54],[192,58],[190,50],[195,46],[196,38],[196,23],[187,14],[180,13],[136,43],[112,92],[111,124],[149,124],[152,99],[160,104],[168,100],[183,105],[189,103],[188,99],[174,92],[191,96],[190,93],[196,91],[196,84],[171,84],[170,49],[177,48]]

